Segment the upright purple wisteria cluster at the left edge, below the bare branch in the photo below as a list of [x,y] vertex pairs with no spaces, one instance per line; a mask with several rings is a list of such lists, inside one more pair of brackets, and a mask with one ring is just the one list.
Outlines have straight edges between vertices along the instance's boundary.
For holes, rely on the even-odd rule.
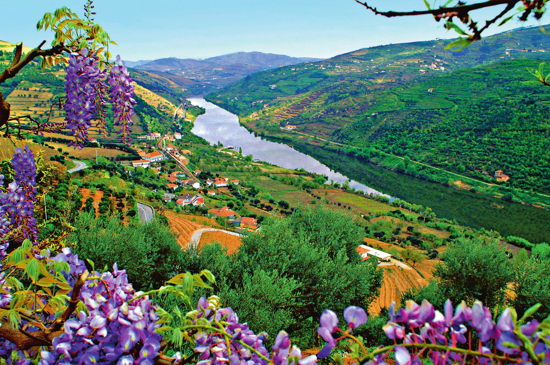
[[[15,174],[6,192],[0,193],[0,259],[5,257],[10,231],[16,231],[19,242],[38,239],[34,217],[36,190],[35,156],[28,145],[16,148],[11,160]],[[0,175],[0,185],[4,176]]]

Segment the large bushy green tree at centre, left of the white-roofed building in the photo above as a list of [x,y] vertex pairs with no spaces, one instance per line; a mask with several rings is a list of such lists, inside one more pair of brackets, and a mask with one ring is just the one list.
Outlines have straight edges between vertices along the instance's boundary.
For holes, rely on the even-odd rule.
[[233,255],[206,246],[200,269],[220,278],[217,295],[251,328],[285,330],[312,345],[321,308],[367,307],[378,293],[381,272],[355,251],[361,238],[362,228],[348,214],[299,209],[265,221],[262,234],[246,236]]

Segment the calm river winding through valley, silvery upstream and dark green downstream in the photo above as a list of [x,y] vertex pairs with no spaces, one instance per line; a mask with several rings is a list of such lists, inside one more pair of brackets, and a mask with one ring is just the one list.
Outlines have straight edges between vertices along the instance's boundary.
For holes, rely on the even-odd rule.
[[[533,243],[550,242],[548,210],[443,186],[306,144],[295,144],[291,148],[261,139],[241,127],[234,114],[202,98],[189,100],[206,108],[206,113],[197,117],[192,132],[210,143],[221,141],[237,150],[242,148],[243,155],[252,154],[255,159],[281,167],[303,167],[327,175],[335,182],[350,180],[350,187],[357,190],[429,206],[437,216],[455,219],[465,226],[485,227],[503,236],[523,237]],[[495,205],[503,208],[494,208]]]

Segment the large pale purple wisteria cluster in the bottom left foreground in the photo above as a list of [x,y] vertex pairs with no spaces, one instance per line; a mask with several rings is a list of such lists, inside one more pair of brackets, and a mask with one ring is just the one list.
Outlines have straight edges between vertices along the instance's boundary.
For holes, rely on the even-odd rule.
[[[86,266],[69,248],[53,258],[66,262],[63,271],[73,283]],[[91,273],[80,290],[86,310],[64,323],[64,333],[53,340],[52,350],[41,352],[40,365],[113,362],[152,365],[162,337],[157,314],[147,296],[140,296],[128,282],[126,270]],[[137,297],[137,298],[136,298]]]

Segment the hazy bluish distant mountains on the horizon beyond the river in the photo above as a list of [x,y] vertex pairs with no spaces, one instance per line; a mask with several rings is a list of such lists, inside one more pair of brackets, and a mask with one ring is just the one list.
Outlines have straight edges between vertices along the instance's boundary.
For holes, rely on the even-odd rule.
[[290,57],[274,53],[236,52],[206,59],[169,57],[125,63],[136,70],[162,72],[167,78],[170,78],[169,74],[173,74],[180,77],[179,81],[182,80],[181,77],[193,80],[201,84],[199,89],[202,92],[207,92],[261,70],[321,60],[322,58]]

